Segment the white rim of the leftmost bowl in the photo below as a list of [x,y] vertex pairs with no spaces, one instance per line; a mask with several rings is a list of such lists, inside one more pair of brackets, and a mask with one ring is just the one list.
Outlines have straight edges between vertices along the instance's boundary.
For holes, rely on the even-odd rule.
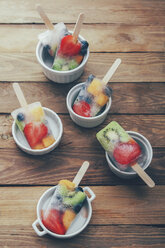
[[31,148],[28,148],[28,147],[22,145],[22,143],[20,143],[18,141],[17,136],[15,135],[15,126],[16,126],[15,120],[14,120],[14,122],[12,124],[12,135],[13,135],[13,138],[14,138],[15,142],[18,144],[18,146],[22,147],[22,149],[24,149],[24,151],[28,151],[28,152],[31,152],[31,153],[34,151],[34,153],[35,154],[38,154],[38,155],[40,155],[41,152],[46,152],[46,151],[51,150],[51,148],[53,148],[53,146],[55,145],[55,143],[58,143],[60,141],[61,136],[62,136],[62,133],[63,133],[62,121],[61,121],[60,117],[56,114],[56,112],[54,112],[53,110],[51,110],[49,108],[46,108],[46,107],[43,107],[43,109],[46,110],[46,111],[48,111],[48,112],[51,112],[53,115],[55,115],[56,118],[57,118],[57,120],[59,121],[59,124],[60,124],[59,125],[60,131],[59,131],[58,138],[55,140],[55,142],[53,142],[52,145],[50,145],[50,146],[48,146],[46,148],[34,150],[34,149],[31,149]]

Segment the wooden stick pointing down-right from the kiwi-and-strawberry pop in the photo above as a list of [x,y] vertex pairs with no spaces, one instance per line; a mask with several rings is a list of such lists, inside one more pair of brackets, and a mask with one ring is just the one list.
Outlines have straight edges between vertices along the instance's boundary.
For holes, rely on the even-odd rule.
[[141,168],[139,164],[135,164],[131,167],[150,188],[155,186],[155,182],[148,176],[148,174]]

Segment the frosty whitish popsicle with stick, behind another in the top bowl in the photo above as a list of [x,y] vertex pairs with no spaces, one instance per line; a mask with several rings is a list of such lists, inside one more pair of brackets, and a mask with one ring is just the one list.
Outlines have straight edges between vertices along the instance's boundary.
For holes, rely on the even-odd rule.
[[41,18],[43,19],[46,27],[48,28],[47,31],[39,34],[38,38],[44,45],[44,48],[47,49],[49,54],[54,57],[56,49],[60,44],[62,37],[64,37],[64,35],[68,33],[67,28],[63,22],[53,25],[47,15],[45,14],[42,7],[40,5],[37,5],[36,8]]

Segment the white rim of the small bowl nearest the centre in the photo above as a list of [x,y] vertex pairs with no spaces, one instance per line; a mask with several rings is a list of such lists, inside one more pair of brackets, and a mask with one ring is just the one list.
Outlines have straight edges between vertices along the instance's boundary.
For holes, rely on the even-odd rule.
[[96,120],[96,119],[99,119],[99,118],[101,118],[102,116],[104,116],[105,114],[107,114],[107,113],[109,112],[109,109],[110,109],[111,103],[112,103],[112,98],[111,98],[111,96],[109,97],[109,100],[108,100],[108,102],[107,102],[107,104],[106,104],[106,106],[105,106],[105,110],[104,110],[101,114],[99,114],[99,115],[97,115],[97,116],[94,116],[94,117],[84,117],[84,116],[81,116],[81,115],[76,114],[76,113],[73,111],[73,109],[72,109],[72,107],[70,106],[70,104],[69,104],[70,94],[71,94],[74,90],[76,90],[77,88],[80,88],[83,84],[85,84],[85,82],[82,82],[82,83],[80,83],[80,84],[76,84],[75,86],[73,86],[73,87],[69,90],[69,92],[68,92],[68,94],[67,94],[67,97],[66,97],[66,104],[67,104],[68,110],[69,110],[69,112],[71,112],[72,115],[75,115],[75,116],[77,116],[78,118],[80,118],[80,119],[82,119],[82,120]]

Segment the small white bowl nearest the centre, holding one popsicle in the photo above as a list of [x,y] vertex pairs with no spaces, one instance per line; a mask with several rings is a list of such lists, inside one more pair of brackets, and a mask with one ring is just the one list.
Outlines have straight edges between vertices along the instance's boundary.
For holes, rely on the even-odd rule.
[[82,88],[82,86],[84,84],[85,83],[77,84],[73,88],[70,89],[70,91],[67,94],[66,105],[67,105],[67,109],[69,111],[71,119],[77,125],[79,125],[81,127],[92,128],[92,127],[96,127],[96,126],[100,125],[105,120],[105,118],[107,117],[107,114],[110,110],[112,100],[110,97],[108,103],[105,106],[104,111],[100,115],[97,115],[94,117],[83,117],[83,116],[76,114],[73,111],[72,105],[73,105],[74,100],[76,99],[80,89]]

